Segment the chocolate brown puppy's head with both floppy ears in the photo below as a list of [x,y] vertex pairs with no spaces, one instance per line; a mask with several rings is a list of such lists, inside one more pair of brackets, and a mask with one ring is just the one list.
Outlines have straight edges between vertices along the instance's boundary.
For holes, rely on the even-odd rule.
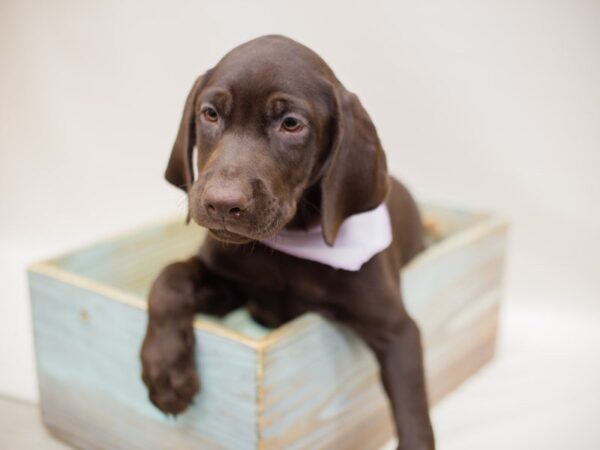
[[232,243],[320,221],[333,245],[344,219],[388,190],[385,155],[357,97],[281,36],[235,48],[196,80],[166,178],[188,193],[195,222]]

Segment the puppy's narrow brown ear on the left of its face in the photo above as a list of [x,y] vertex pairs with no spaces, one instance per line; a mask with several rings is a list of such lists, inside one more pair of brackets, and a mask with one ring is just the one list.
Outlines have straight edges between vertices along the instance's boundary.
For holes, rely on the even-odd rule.
[[198,77],[187,96],[177,138],[175,139],[175,144],[173,144],[173,150],[171,151],[171,157],[169,158],[165,172],[165,178],[169,183],[186,192],[194,183],[194,167],[192,162],[194,146],[196,145],[196,113],[194,105],[198,92],[202,89],[207,77],[208,72]]

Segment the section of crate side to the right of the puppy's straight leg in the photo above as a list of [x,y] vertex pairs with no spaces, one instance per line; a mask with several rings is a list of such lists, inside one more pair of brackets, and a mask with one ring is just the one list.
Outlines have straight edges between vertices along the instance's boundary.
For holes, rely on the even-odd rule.
[[490,226],[402,274],[407,306],[422,331],[432,404],[494,355],[506,238],[504,225]]

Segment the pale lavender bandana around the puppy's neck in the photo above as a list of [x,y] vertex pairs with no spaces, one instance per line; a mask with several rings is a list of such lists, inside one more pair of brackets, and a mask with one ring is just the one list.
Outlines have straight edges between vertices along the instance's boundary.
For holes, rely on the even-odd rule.
[[387,207],[382,203],[371,211],[348,217],[340,227],[333,247],[325,243],[320,225],[307,231],[282,230],[261,242],[298,258],[355,272],[389,247],[392,225]]

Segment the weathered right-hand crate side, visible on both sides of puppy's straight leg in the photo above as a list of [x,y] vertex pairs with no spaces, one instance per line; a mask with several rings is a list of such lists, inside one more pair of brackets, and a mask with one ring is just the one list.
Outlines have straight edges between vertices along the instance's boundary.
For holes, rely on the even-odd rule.
[[[434,244],[426,250],[431,257],[402,275],[405,301],[422,329],[432,404],[494,353],[506,229],[456,237],[459,244],[437,253]],[[345,327],[310,317],[269,348],[264,365],[265,449],[352,449],[356,442],[370,449],[392,435],[374,358]],[[370,421],[381,429],[355,433]]]

